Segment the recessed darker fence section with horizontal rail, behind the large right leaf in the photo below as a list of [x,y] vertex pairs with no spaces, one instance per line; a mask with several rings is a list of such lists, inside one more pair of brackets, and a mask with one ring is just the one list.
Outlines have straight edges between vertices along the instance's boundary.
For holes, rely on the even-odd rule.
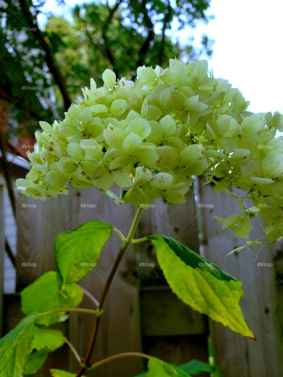
[[[199,252],[198,225],[193,190],[186,204],[170,204],[157,199],[141,215],[138,236],[165,234]],[[208,360],[206,319],[172,294],[158,266],[150,242],[137,244],[138,278],[141,284],[141,325],[145,352],[179,365],[192,355]],[[198,346],[192,334],[199,334]],[[179,336],[179,338],[178,338]],[[201,349],[201,351],[200,351]],[[197,350],[197,351],[196,351]]]

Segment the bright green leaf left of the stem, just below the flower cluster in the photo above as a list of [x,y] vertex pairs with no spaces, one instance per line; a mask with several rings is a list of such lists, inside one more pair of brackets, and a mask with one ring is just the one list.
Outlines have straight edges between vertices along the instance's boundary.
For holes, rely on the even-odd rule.
[[63,283],[77,282],[97,263],[112,225],[88,221],[70,232],[59,234],[55,241],[55,260]]

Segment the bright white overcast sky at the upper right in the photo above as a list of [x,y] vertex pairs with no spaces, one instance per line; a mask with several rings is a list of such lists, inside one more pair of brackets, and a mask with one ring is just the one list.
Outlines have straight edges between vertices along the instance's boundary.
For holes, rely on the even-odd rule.
[[[83,1],[66,3],[74,6]],[[45,9],[55,8],[54,0],[47,0]],[[238,87],[251,101],[250,111],[283,113],[283,1],[211,0],[208,14],[215,19],[208,25],[199,23],[193,34],[197,41],[203,33],[215,40],[209,61],[214,77],[226,78]],[[181,40],[185,41],[188,35],[192,35],[191,29],[182,31]]]

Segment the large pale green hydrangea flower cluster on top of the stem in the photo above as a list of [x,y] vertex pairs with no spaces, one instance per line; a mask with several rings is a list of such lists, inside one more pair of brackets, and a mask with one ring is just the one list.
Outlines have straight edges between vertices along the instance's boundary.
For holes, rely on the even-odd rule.
[[65,120],[40,122],[31,170],[17,180],[21,193],[45,200],[67,194],[68,184],[94,185],[118,204],[183,203],[192,177],[205,175],[221,178],[216,190],[232,183],[254,204],[218,218],[223,227],[246,237],[249,218],[260,214],[269,241],[283,235],[283,137],[275,138],[281,114],[248,112],[241,92],[208,75],[205,60],[142,66],[135,81],[117,80],[109,69],[102,78],[103,87],[91,79],[82,89]]

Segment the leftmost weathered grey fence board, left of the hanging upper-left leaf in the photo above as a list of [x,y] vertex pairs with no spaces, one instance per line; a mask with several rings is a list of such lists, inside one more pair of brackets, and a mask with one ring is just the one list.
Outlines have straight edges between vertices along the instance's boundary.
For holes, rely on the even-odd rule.
[[[70,201],[58,196],[48,201],[17,199],[17,290],[46,271],[55,270],[54,241],[70,229]],[[28,263],[37,264],[36,267]],[[26,264],[26,265],[25,265]]]

